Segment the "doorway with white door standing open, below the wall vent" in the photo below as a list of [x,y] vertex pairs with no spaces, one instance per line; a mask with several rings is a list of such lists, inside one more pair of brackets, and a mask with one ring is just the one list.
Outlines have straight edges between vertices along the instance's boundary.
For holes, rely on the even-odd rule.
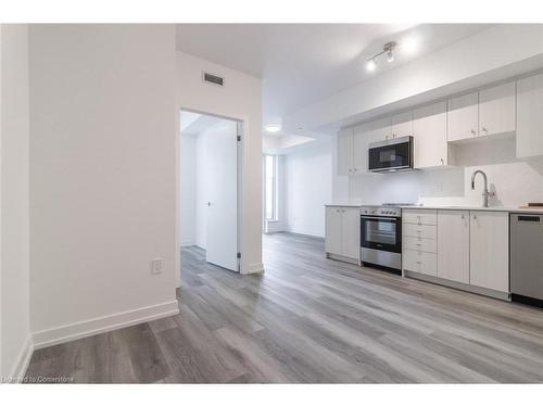
[[180,111],[178,241],[184,253],[240,271],[242,123]]

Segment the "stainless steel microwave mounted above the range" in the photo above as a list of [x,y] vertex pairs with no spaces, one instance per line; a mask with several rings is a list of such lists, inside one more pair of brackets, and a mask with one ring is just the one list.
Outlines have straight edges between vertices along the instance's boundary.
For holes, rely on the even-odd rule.
[[399,137],[370,143],[368,167],[372,173],[413,169],[413,137]]

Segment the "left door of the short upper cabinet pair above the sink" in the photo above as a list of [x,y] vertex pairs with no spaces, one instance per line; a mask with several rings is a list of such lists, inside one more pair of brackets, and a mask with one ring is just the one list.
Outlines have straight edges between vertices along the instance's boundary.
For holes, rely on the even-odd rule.
[[450,98],[447,101],[447,140],[477,137],[479,130],[479,93]]

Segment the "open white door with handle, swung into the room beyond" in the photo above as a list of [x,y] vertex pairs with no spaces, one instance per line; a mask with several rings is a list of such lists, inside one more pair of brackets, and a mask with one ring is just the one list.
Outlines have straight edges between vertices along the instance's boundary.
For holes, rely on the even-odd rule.
[[238,124],[220,120],[206,135],[206,260],[238,271]]

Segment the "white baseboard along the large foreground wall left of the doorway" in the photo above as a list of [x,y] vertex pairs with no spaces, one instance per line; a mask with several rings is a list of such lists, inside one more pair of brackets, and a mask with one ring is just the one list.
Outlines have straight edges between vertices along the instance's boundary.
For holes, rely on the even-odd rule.
[[39,349],[77,339],[92,336],[98,333],[126,328],[154,319],[179,314],[176,301],[131,309],[124,313],[111,314],[100,318],[88,319],[76,323],[34,332],[34,348]]

